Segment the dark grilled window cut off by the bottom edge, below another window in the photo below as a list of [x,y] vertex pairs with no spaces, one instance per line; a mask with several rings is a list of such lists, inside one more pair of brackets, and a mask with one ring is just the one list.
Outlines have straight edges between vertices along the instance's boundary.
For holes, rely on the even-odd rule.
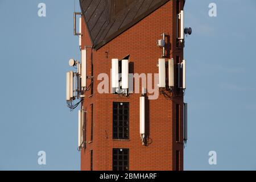
[[113,148],[113,171],[129,171],[129,149]]

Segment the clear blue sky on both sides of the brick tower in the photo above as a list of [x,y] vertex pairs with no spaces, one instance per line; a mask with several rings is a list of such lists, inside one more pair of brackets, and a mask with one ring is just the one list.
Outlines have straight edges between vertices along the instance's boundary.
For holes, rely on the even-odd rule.
[[[211,2],[217,17],[208,15]],[[73,1],[0,0],[0,170],[80,169],[77,113],[65,105],[68,60],[80,58],[73,10]],[[186,2],[193,34],[185,45],[185,170],[256,169],[255,10],[254,0]],[[45,166],[37,163],[42,150]],[[209,151],[217,152],[216,166],[208,164]]]

